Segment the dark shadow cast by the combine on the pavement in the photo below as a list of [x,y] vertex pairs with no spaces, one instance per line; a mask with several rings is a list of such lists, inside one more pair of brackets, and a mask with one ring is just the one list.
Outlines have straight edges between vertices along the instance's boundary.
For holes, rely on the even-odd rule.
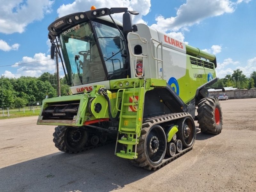
[[111,191],[153,173],[114,155],[115,144],[54,153],[0,169],[0,191]]

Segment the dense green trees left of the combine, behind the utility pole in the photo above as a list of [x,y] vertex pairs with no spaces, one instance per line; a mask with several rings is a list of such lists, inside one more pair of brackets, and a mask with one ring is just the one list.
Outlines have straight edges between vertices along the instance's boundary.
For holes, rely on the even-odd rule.
[[[0,108],[22,108],[35,103],[42,103],[46,97],[57,96],[56,74],[48,72],[40,77],[0,78]],[[69,86],[66,78],[60,79],[61,95],[67,95]]]

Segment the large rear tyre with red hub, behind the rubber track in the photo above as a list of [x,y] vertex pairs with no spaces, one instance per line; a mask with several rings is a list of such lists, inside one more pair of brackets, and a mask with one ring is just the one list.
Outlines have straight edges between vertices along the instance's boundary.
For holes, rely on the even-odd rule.
[[223,119],[218,99],[209,97],[200,100],[197,113],[202,133],[219,134],[221,132]]

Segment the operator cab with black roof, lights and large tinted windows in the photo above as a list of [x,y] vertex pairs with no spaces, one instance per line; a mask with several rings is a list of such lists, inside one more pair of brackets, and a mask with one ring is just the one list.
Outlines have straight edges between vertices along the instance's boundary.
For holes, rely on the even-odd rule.
[[[110,15],[121,11],[125,12],[124,14],[130,13],[127,8],[116,9],[104,8],[105,15],[110,18],[99,19],[98,17],[103,16],[103,9],[98,9],[67,15],[48,27],[52,46],[54,45],[59,53],[58,44],[61,44],[61,55],[67,70],[65,75],[71,86],[131,76],[122,24],[118,22],[117,25]],[[131,24],[131,19],[128,20],[130,21],[127,22],[126,19],[125,22]],[[127,31],[127,27],[125,30]],[[131,31],[128,28],[129,30]]]

